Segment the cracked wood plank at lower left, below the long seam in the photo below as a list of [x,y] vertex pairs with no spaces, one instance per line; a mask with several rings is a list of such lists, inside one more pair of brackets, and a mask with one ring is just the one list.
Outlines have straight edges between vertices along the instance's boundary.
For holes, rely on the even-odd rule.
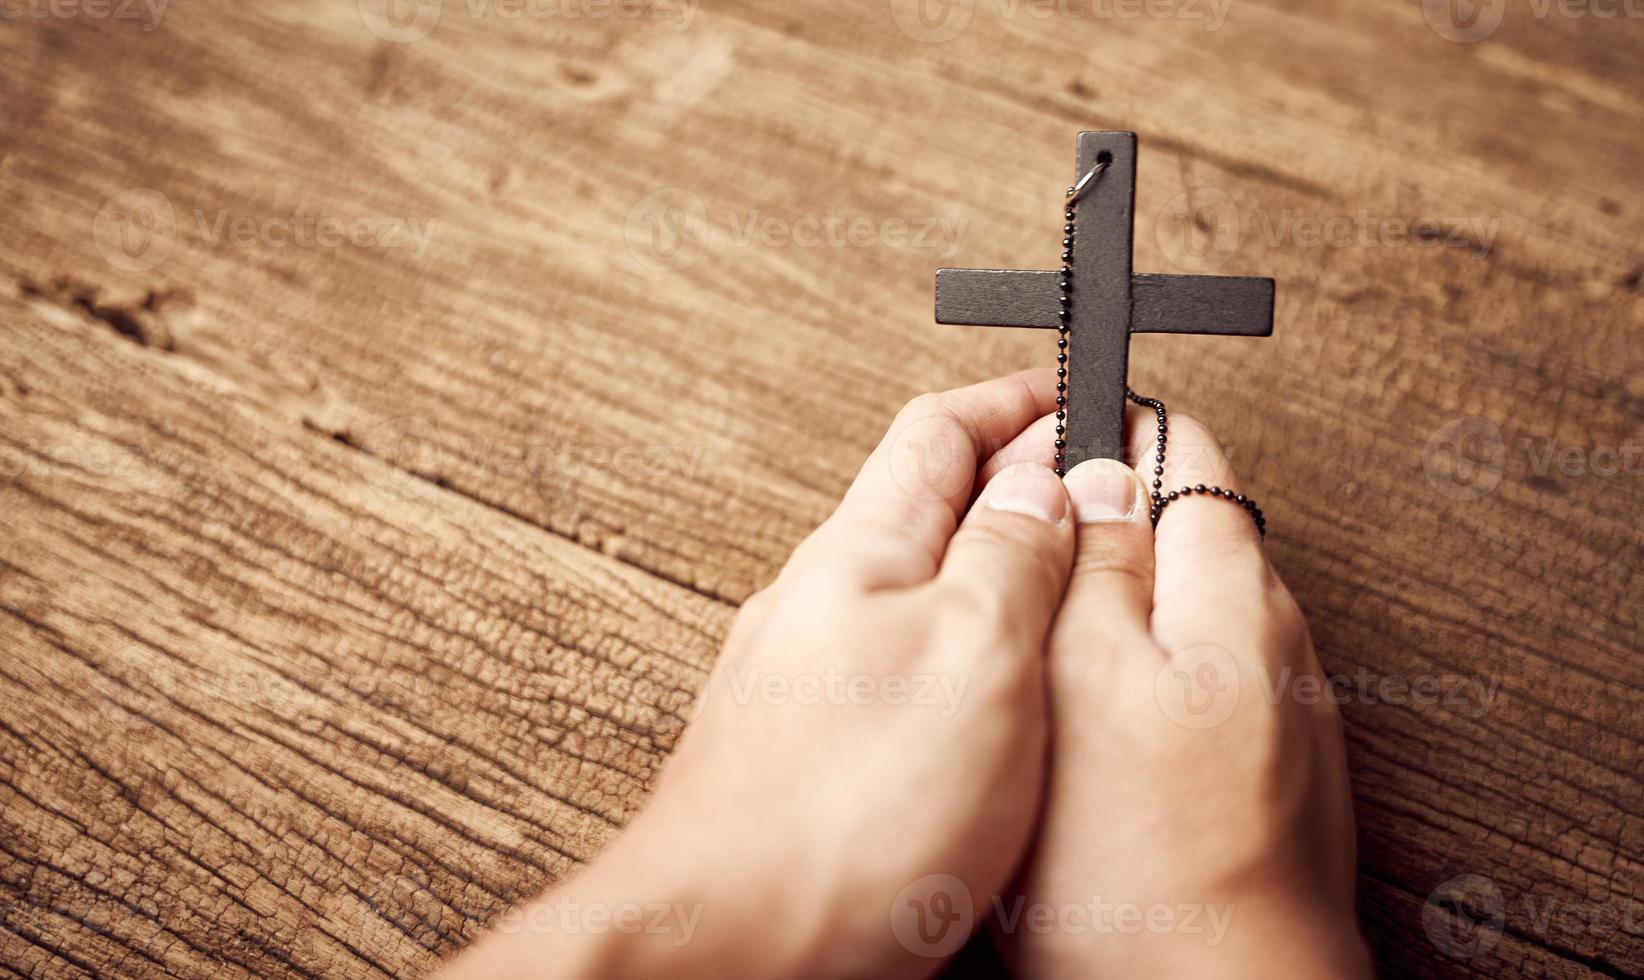
[[0,322],[0,959],[398,975],[643,802],[727,607],[84,314]]

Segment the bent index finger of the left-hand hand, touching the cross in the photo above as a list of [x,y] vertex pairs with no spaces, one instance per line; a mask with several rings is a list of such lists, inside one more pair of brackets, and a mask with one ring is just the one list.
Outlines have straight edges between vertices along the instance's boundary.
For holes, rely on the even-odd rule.
[[914,398],[806,543],[804,561],[840,562],[868,587],[929,580],[970,505],[977,464],[1054,408],[1051,368]]

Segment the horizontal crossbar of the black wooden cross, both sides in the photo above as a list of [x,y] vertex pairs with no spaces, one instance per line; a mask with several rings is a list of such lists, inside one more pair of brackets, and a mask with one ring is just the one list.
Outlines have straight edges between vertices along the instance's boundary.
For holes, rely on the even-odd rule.
[[[1062,298],[1055,283],[1057,273],[937,270],[935,322],[1054,329]],[[1131,276],[1131,332],[1268,337],[1272,334],[1272,280]]]

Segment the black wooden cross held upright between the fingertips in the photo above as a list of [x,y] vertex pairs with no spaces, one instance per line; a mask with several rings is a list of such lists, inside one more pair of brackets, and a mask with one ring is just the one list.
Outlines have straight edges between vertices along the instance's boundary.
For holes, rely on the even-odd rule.
[[[1272,334],[1272,280],[1131,275],[1136,133],[1080,133],[1075,176],[1106,171],[1074,204],[1069,317],[1067,469],[1124,459],[1124,378],[1131,334]],[[1049,238],[1049,232],[1046,233]],[[1060,273],[944,268],[935,322],[1059,324]],[[1220,326],[1205,326],[1217,322]]]

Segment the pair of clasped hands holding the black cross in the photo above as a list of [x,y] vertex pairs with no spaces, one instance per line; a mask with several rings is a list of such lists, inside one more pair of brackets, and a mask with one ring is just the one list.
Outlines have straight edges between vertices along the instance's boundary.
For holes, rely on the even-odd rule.
[[[1049,469],[1055,377],[911,401],[743,605],[635,822],[446,977],[1368,977],[1332,699],[1249,515]],[[1151,457],[1152,413],[1131,444]],[[1164,487],[1236,487],[1174,416]]]

